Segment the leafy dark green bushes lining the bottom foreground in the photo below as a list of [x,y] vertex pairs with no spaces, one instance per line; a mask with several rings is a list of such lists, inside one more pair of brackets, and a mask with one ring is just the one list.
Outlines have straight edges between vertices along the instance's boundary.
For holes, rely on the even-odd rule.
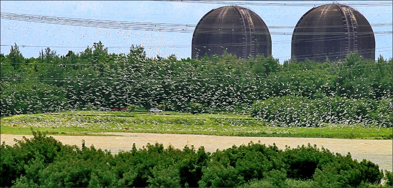
[[249,143],[223,151],[182,150],[147,144],[110,151],[63,145],[32,131],[33,137],[0,147],[1,187],[381,187],[392,173],[371,161],[352,160],[315,145],[278,149]]

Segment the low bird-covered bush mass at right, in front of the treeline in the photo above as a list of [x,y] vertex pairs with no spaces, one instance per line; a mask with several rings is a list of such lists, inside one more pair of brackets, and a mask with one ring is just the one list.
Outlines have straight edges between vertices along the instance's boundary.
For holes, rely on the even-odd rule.
[[392,98],[282,96],[255,101],[251,115],[276,126],[311,126],[323,123],[393,127]]

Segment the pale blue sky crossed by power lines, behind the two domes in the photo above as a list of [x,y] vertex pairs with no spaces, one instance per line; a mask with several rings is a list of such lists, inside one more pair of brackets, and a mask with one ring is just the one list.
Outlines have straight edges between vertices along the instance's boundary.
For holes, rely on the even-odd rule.
[[[109,20],[119,22],[149,22],[166,24],[196,25],[204,14],[214,8],[225,6],[224,2],[256,2],[256,3],[288,3],[288,4],[320,4],[333,1],[220,1],[221,3],[193,3],[173,1],[13,1],[1,0],[1,12],[54,16],[76,19]],[[345,1],[337,3],[351,5],[361,12],[370,24],[392,24],[393,9],[389,6],[355,5],[359,3],[392,2],[392,1]],[[241,5],[258,14],[268,27],[295,26],[298,20],[312,6],[273,6],[273,5]],[[269,28],[270,32],[286,32],[285,35],[272,35],[272,55],[282,63],[290,58],[291,33],[293,28]],[[380,54],[384,58],[392,57],[393,34],[392,25],[373,27],[374,32],[390,31],[388,34],[377,34],[376,58]],[[38,57],[45,47],[65,55],[68,50],[76,53],[84,51],[87,46],[101,41],[110,53],[125,53],[131,44],[143,45],[149,56],[175,54],[178,59],[191,56],[192,32],[159,32],[115,28],[97,28],[67,26],[46,23],[34,23],[0,20],[1,53],[9,54],[10,46],[16,43],[25,57]],[[22,47],[38,46],[38,47]]]

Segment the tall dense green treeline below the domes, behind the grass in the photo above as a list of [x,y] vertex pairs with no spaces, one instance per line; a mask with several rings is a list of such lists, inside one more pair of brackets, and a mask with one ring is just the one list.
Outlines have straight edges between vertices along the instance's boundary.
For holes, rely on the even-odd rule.
[[238,59],[231,54],[180,59],[147,57],[141,46],[111,54],[101,42],[59,56],[50,48],[24,58],[19,47],[1,54],[1,116],[133,105],[148,109],[250,113],[257,100],[298,96],[380,100],[392,98],[393,60],[288,62],[272,56]]

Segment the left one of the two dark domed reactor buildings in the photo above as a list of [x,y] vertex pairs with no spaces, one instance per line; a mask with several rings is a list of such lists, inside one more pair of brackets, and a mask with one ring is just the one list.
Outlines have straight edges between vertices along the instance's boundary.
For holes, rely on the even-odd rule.
[[272,54],[272,39],[263,20],[240,6],[224,6],[206,13],[194,30],[192,58],[221,55],[240,58]]

